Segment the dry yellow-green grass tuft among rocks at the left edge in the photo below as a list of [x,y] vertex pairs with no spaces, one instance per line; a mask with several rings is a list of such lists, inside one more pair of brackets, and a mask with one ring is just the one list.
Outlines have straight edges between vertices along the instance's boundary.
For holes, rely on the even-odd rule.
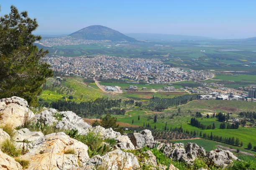
[[5,139],[0,144],[0,148],[3,153],[6,153],[7,155],[12,156],[12,157],[19,156],[21,153],[20,149],[17,149],[15,147],[14,142],[10,139]]

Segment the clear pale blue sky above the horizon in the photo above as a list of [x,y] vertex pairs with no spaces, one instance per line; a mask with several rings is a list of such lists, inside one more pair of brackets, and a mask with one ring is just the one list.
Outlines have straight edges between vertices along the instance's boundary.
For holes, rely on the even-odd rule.
[[[4,1],[4,2],[3,2]],[[70,34],[90,25],[122,33],[256,37],[256,0],[1,0],[36,18],[35,34]]]

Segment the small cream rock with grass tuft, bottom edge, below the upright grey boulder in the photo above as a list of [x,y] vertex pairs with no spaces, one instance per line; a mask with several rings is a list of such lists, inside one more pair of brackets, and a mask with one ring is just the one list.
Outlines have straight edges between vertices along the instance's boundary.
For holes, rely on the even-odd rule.
[[142,152],[139,155],[139,158],[141,158],[141,165],[157,166],[156,156],[151,152],[151,150]]

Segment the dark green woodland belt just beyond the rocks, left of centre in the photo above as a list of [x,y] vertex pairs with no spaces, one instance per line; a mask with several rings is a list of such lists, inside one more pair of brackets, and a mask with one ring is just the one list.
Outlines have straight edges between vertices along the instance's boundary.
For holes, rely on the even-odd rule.
[[[108,100],[105,98],[97,98],[94,101],[88,102],[71,102],[64,100],[53,101],[48,104],[47,107],[53,107],[60,111],[70,110],[75,112],[81,117],[90,117],[93,115],[101,116],[102,114],[124,114],[125,110],[110,109],[111,107],[120,107],[121,99],[119,100]],[[44,105],[44,103],[42,103]]]

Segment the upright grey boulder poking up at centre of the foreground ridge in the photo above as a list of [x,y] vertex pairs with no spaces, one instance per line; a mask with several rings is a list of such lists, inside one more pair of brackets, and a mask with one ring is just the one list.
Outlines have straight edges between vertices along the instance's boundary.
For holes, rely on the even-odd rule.
[[142,130],[140,133],[133,133],[130,137],[131,142],[133,143],[135,148],[143,148],[143,146],[147,146],[149,148],[154,147],[154,137],[150,130]]

